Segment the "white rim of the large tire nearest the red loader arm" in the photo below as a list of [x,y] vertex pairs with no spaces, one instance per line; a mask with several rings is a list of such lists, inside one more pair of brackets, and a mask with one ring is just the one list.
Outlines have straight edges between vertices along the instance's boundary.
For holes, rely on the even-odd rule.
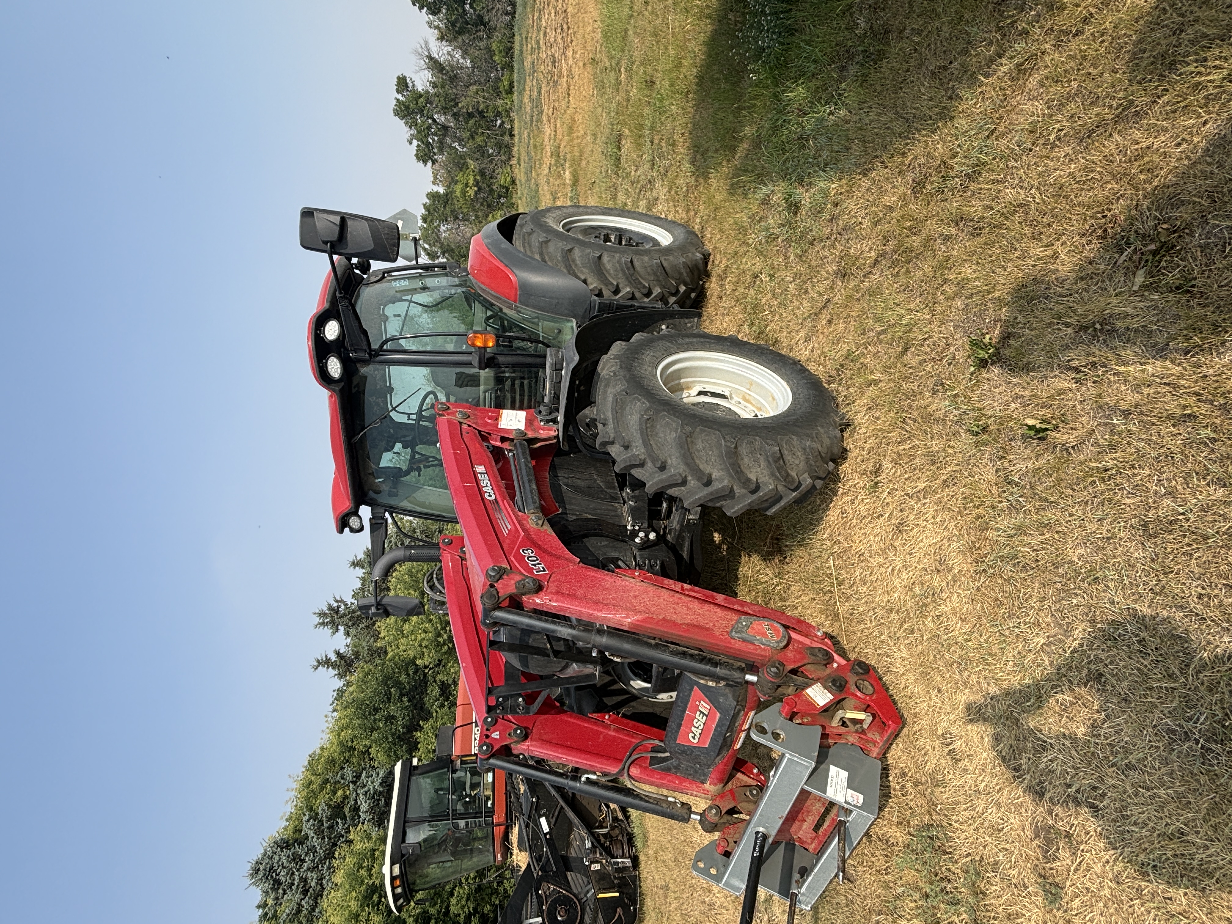
[[791,386],[765,366],[710,350],[687,350],[659,362],[668,394],[726,416],[772,418],[791,405]]

